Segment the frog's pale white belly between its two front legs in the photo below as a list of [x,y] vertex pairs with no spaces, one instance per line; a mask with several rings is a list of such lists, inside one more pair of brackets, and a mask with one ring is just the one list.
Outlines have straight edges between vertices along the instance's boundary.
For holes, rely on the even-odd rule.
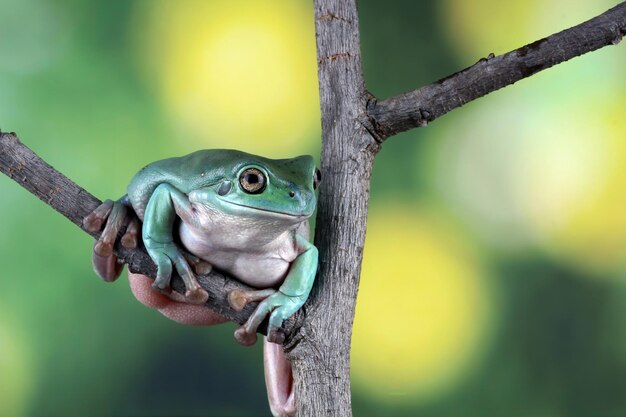
[[[294,232],[285,232],[262,246],[255,239],[241,242],[232,235],[219,233],[198,236],[183,223],[180,228],[183,245],[197,257],[257,288],[277,287],[284,281],[291,262],[298,256]],[[238,246],[238,245],[236,245]]]

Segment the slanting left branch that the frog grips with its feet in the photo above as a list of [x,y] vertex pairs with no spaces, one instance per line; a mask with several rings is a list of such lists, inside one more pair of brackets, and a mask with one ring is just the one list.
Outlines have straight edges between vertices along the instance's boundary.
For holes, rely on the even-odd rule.
[[[84,232],[94,238],[99,237],[100,233],[88,232],[82,223],[83,218],[98,207],[101,201],[48,165],[23,145],[15,133],[0,132],[0,171],[67,217]],[[114,251],[115,255],[128,265],[131,272],[152,278],[156,276],[156,265],[143,247],[127,249],[116,242]],[[209,293],[206,307],[239,324],[248,319],[257,305],[250,303],[242,311],[230,308],[227,298],[230,291],[252,288],[219,271],[214,270],[207,275],[199,276],[198,282]],[[172,272],[172,288],[182,294],[185,293],[185,284],[176,271]],[[283,325],[286,343],[290,342],[295,324],[292,318],[286,320]],[[266,334],[266,330],[267,321],[259,326],[259,333]]]

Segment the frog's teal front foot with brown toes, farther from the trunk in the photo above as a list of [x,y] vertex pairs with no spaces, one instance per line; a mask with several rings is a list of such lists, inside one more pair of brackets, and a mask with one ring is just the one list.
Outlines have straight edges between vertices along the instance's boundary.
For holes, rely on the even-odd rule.
[[170,293],[170,280],[172,278],[172,264],[178,275],[185,283],[185,299],[192,304],[204,304],[209,299],[209,294],[200,287],[196,276],[191,270],[189,263],[181,254],[174,242],[158,242],[144,237],[146,249],[150,257],[157,265],[157,277],[152,288],[161,293]]

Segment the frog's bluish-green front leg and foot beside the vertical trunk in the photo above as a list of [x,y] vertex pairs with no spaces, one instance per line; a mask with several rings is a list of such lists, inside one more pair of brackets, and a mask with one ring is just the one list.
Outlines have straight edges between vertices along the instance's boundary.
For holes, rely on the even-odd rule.
[[229,302],[235,309],[242,309],[248,301],[266,297],[248,320],[235,331],[235,339],[242,345],[256,343],[257,328],[268,314],[270,318],[267,340],[283,343],[284,334],[280,332],[283,321],[298,311],[309,297],[317,272],[317,248],[299,234],[296,234],[296,246],[300,255],[291,263],[289,273],[278,291],[233,291],[229,295]]

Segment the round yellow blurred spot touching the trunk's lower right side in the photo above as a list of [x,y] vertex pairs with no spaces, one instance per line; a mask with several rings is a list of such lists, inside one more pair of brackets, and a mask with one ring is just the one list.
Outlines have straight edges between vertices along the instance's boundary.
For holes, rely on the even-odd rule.
[[479,358],[492,298],[473,251],[414,208],[370,215],[357,302],[355,386],[380,400],[430,398]]

